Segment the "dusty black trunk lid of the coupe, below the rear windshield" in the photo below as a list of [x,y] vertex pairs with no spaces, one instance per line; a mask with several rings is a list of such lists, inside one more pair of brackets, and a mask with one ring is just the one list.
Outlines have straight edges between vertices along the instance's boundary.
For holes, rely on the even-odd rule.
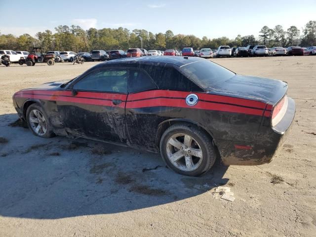
[[236,75],[213,85],[209,93],[261,101],[275,105],[287,92],[287,82]]

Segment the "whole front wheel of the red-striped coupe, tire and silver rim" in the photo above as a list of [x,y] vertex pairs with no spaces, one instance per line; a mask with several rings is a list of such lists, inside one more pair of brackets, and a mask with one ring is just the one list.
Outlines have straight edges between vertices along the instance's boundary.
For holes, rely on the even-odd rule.
[[35,135],[44,138],[54,136],[48,117],[38,104],[29,106],[26,112],[26,120],[29,128]]

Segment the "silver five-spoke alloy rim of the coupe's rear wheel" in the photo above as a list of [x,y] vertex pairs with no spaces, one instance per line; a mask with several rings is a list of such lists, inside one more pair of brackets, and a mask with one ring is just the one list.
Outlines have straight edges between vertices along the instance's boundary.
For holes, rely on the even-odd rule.
[[203,152],[197,141],[185,133],[172,135],[166,145],[170,162],[182,171],[194,171],[202,163]]

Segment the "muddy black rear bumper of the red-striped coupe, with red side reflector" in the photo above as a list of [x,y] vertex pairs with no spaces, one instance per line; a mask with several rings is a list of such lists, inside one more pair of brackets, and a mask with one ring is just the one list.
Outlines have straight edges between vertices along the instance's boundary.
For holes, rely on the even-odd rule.
[[282,147],[291,131],[295,102],[288,97],[284,117],[274,127],[262,125],[253,142],[218,141],[218,150],[225,165],[259,165],[269,163]]

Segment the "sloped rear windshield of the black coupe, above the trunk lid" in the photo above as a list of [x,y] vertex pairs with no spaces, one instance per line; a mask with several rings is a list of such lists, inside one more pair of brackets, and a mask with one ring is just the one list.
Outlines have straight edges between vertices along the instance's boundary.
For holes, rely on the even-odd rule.
[[185,76],[200,87],[207,89],[226,81],[236,74],[208,60],[199,60],[180,67]]

